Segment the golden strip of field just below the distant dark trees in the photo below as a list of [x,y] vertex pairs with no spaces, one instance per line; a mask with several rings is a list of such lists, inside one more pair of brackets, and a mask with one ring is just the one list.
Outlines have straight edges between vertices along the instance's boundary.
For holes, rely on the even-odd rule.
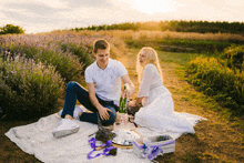
[[[71,31],[53,31],[53,33],[70,33]],[[80,35],[110,35],[115,37],[121,40],[205,40],[205,41],[244,41],[244,35],[232,34],[232,33],[196,33],[196,32],[175,32],[175,31],[149,31],[149,30],[101,30],[101,31],[90,31],[83,30],[79,32],[71,32]]]

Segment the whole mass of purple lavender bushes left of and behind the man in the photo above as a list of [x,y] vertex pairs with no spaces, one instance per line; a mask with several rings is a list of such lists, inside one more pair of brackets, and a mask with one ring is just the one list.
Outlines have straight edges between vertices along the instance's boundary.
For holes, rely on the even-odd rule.
[[[11,119],[40,118],[57,111],[65,83],[84,82],[93,42],[106,39],[111,57],[128,52],[123,41],[72,32],[0,37],[0,106]],[[61,105],[60,105],[61,106]]]

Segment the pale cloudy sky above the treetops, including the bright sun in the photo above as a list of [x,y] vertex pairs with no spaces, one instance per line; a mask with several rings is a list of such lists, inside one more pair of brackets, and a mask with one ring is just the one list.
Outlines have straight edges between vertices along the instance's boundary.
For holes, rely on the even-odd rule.
[[1,0],[0,27],[26,33],[164,20],[244,22],[244,0]]

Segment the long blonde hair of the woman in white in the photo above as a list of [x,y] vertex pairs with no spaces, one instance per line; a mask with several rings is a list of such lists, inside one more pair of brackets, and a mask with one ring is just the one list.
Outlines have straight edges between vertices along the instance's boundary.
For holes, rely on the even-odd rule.
[[[142,52],[145,52],[145,62],[143,63],[143,65],[140,65],[139,58],[140,58],[140,54]],[[139,83],[141,83],[143,70],[144,70],[145,65],[149,64],[149,63],[152,63],[152,64],[154,64],[156,67],[159,73],[161,75],[161,79],[163,81],[162,69],[160,67],[160,61],[159,61],[159,57],[157,57],[156,51],[153,48],[151,48],[151,47],[144,47],[138,53],[138,59],[136,59],[136,72],[138,72],[138,81],[139,81]]]

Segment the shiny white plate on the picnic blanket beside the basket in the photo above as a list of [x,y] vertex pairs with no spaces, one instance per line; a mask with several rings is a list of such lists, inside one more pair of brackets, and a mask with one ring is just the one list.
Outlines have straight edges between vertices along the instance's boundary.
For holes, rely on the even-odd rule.
[[133,145],[133,140],[141,137],[136,132],[131,130],[120,130],[114,133],[116,134],[116,136],[113,137],[112,142],[124,146]]

